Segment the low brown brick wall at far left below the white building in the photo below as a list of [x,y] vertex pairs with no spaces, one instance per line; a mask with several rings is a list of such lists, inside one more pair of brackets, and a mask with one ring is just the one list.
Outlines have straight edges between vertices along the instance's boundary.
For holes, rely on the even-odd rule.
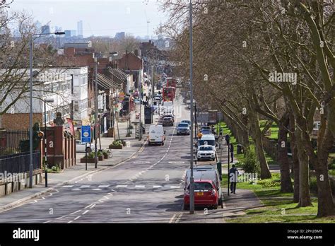
[[[40,123],[42,127],[42,113],[33,114],[33,124]],[[29,114],[4,114],[2,116],[2,127],[7,130],[22,130],[29,128]]]

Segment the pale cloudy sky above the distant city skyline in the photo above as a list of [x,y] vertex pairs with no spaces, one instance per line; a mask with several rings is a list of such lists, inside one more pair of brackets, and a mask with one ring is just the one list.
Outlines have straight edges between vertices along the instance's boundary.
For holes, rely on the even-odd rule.
[[[35,21],[62,30],[77,30],[83,21],[83,36],[131,33],[135,37],[155,36],[155,29],[165,23],[167,14],[157,0],[13,0],[11,11],[31,13]],[[53,29],[51,31],[54,31]]]

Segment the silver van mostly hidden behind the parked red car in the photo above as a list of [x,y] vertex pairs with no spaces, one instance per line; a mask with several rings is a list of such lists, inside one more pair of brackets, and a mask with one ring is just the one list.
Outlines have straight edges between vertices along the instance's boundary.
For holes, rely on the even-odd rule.
[[[184,190],[189,187],[189,181],[191,177],[191,170],[187,169],[185,178],[184,178]],[[216,185],[216,190],[218,191],[218,204],[223,208],[223,195],[221,190],[221,180],[218,170],[214,168],[212,165],[200,165],[193,169],[193,177],[194,180],[211,180]]]

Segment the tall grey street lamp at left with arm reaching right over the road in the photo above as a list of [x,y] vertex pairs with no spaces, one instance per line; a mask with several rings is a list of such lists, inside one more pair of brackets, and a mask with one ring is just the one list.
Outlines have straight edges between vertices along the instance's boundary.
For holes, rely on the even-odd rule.
[[30,35],[30,114],[29,114],[29,188],[33,188],[33,36],[41,35],[64,35],[64,32],[40,33]]

